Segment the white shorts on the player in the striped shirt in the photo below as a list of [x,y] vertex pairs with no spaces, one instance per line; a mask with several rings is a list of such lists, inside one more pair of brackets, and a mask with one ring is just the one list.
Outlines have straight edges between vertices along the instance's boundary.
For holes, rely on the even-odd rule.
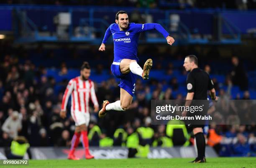
[[76,126],[85,124],[86,126],[89,125],[90,122],[90,113],[84,113],[82,111],[74,110],[71,112],[71,116],[75,122]]

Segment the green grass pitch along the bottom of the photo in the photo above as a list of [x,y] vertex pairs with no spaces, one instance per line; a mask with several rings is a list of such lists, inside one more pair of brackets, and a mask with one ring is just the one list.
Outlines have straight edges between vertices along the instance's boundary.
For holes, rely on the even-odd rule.
[[[256,168],[254,158],[207,158],[207,163],[188,163],[192,158],[110,159],[110,160],[29,160],[31,168]],[[8,166],[20,167],[18,166]]]

